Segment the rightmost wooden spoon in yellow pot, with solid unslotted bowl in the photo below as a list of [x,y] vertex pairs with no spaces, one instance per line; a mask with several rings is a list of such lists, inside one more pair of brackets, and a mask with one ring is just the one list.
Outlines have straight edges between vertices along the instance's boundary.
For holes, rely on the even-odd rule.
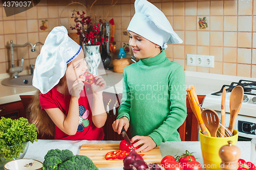
[[244,98],[244,89],[242,86],[236,86],[232,89],[230,93],[229,99],[229,107],[230,107],[230,122],[228,129],[233,134],[234,131],[234,122],[238,116],[238,112],[241,108],[242,102]]

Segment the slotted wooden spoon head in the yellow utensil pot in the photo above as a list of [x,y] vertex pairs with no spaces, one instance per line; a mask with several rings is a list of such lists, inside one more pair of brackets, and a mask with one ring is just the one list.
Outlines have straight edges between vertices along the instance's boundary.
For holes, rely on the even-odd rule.
[[218,113],[211,109],[204,109],[202,112],[202,119],[206,128],[210,132],[210,136],[217,137],[217,131],[220,125]]

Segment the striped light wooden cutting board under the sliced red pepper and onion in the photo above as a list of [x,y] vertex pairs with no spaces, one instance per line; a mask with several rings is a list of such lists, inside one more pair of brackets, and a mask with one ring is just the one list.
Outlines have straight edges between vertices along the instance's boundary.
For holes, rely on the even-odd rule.
[[[123,160],[104,158],[106,153],[116,150],[119,150],[119,144],[82,144],[79,155],[89,157],[97,167],[123,166]],[[145,154],[143,159],[146,163],[160,164],[162,159],[159,147],[141,154]]]

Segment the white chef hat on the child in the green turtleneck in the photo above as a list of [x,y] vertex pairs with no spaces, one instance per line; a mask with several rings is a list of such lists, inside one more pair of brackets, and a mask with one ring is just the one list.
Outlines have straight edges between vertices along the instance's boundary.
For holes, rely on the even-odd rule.
[[135,1],[135,14],[127,28],[163,49],[168,44],[182,43],[182,39],[174,32],[170,22],[156,6],[146,0]]

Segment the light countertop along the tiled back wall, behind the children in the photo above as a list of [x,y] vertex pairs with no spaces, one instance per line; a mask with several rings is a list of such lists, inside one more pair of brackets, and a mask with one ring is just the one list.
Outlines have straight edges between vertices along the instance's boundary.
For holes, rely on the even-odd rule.
[[[102,75],[106,81],[105,92],[122,93],[122,74],[113,72],[112,70],[101,70],[99,75]],[[136,76],[136,75],[135,75]],[[185,71],[186,86],[194,85],[198,95],[219,91],[224,84],[243,80],[252,80],[252,78],[244,78],[237,76],[226,76],[209,74],[204,72]],[[0,75],[0,83],[3,81]],[[0,105],[10,102],[20,101],[19,95],[33,95],[36,91],[35,87],[9,87],[0,84]]]

